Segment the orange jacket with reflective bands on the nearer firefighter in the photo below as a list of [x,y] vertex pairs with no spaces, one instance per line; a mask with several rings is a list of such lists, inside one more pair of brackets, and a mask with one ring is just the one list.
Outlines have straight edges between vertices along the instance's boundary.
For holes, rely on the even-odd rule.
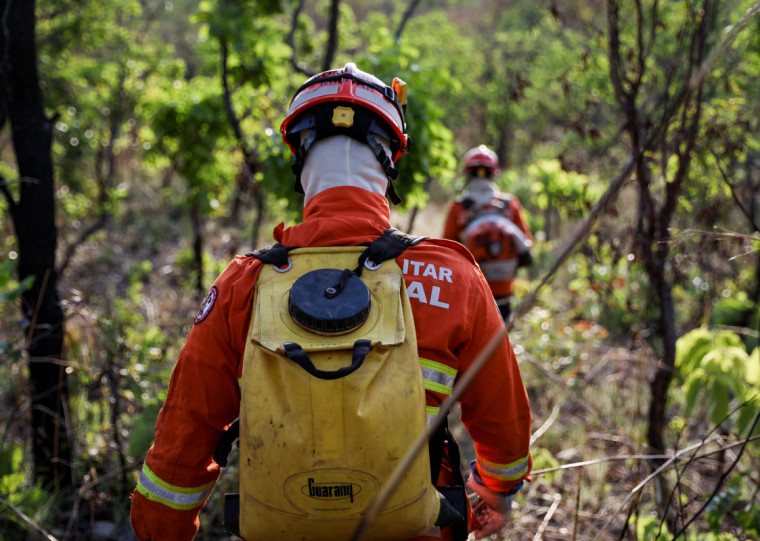
[[[274,230],[287,246],[367,243],[388,229],[386,199],[340,187],[315,196],[301,224]],[[426,396],[435,414],[491,336],[503,327],[482,274],[469,253],[445,240],[407,249],[396,262],[411,299],[419,354],[437,375]],[[243,351],[261,262],[238,256],[204,300],[171,375],[156,422],[156,439],[132,495],[132,527],[141,540],[190,540],[220,468],[212,455],[238,417]],[[441,379],[441,375],[448,376]],[[509,339],[505,338],[461,401],[486,486],[508,491],[532,466],[531,414]]]

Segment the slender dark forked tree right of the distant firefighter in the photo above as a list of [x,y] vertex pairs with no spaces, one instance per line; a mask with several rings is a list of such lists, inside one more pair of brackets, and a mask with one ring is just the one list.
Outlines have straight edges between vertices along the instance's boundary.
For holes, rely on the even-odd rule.
[[[637,0],[631,13],[626,14],[621,2],[609,0],[607,15],[610,75],[625,116],[624,131],[631,156],[636,161],[635,243],[657,306],[655,336],[660,344],[661,363],[651,381],[647,435],[653,450],[663,452],[663,432],[668,422],[665,405],[678,338],[670,227],[682,189],[689,180],[702,115],[703,86],[689,85],[706,57],[708,39],[716,26],[717,6],[704,0],[687,10],[682,21],[677,21],[675,13],[656,5],[649,10]],[[625,19],[634,22],[627,25],[623,23]],[[663,54],[666,47],[657,45],[671,39],[659,35],[662,28],[677,30],[674,35],[678,38],[669,55]],[[655,51],[661,55],[659,61],[653,57]],[[650,86],[650,80],[662,81],[662,86]],[[651,109],[647,101],[664,105],[666,114],[662,115],[658,108]],[[664,134],[661,142],[658,130]],[[653,143],[659,144],[654,148]]]

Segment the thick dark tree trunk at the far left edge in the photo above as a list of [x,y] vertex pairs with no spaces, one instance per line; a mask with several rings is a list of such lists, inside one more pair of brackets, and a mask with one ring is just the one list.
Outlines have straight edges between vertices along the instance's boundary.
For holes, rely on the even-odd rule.
[[55,268],[57,229],[51,157],[52,122],[45,114],[37,71],[35,1],[0,0],[0,121],[10,124],[17,189],[0,189],[10,210],[20,279],[34,277],[22,296],[32,394],[34,476],[44,486],[74,485],[63,362],[64,315]]

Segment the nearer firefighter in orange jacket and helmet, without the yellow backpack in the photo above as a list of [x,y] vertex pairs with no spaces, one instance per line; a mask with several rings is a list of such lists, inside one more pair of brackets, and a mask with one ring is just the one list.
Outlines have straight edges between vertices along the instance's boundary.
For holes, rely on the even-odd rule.
[[[275,227],[277,242],[357,246],[391,227],[386,195],[398,200],[390,180],[408,144],[400,90],[347,64],[309,79],[296,92],[281,132],[295,154],[297,190],[305,194],[303,222]],[[351,128],[326,116],[341,103],[357,111]],[[427,410],[434,416],[503,322],[488,284],[459,244],[427,239],[396,262],[411,300],[419,355],[427,360]],[[195,317],[132,495],[132,527],[140,540],[190,540],[198,531],[198,513],[220,473],[213,459],[217,443],[240,413],[238,379],[262,266],[250,254],[236,257]],[[532,464],[531,413],[508,338],[460,403],[477,455],[467,484],[480,496],[475,506],[480,538],[505,525],[508,495],[522,485]],[[439,484],[451,477],[443,462]],[[452,538],[448,529],[441,531],[442,539]]]

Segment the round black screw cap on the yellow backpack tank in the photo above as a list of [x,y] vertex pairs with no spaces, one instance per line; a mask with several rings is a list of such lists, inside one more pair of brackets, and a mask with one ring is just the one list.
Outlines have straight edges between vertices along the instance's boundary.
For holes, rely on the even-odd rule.
[[370,310],[369,289],[351,275],[343,290],[332,298],[328,288],[340,282],[342,270],[317,269],[293,283],[288,295],[288,311],[298,325],[316,334],[346,334],[360,327]]

